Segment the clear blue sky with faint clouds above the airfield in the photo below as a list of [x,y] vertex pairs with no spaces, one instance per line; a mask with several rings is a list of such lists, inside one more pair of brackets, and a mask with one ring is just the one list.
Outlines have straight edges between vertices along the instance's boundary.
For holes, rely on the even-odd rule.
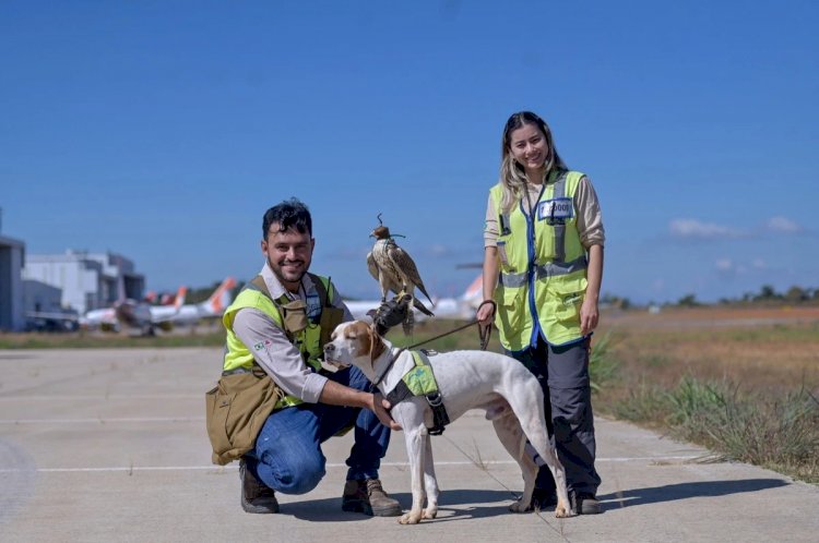
[[298,196],[343,293],[378,293],[381,213],[458,294],[530,109],[601,198],[604,293],[816,288],[817,26],[788,0],[4,0],[2,234],[203,287],[250,279],[262,214]]

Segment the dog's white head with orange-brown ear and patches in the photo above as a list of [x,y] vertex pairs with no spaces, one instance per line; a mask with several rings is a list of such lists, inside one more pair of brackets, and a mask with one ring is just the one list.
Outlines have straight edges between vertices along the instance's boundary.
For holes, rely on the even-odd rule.
[[340,324],[331,338],[324,345],[324,362],[336,367],[357,365],[367,373],[387,349],[384,339],[371,325],[361,321]]

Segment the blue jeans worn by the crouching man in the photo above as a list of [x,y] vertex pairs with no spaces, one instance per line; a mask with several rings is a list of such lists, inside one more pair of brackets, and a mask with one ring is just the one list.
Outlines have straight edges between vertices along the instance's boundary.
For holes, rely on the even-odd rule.
[[[370,389],[370,382],[355,366],[328,377],[357,390]],[[256,438],[256,447],[244,457],[247,469],[282,494],[310,492],[325,473],[321,444],[354,423],[347,480],[377,479],[390,444],[390,429],[369,409],[327,403],[300,403],[271,413]]]

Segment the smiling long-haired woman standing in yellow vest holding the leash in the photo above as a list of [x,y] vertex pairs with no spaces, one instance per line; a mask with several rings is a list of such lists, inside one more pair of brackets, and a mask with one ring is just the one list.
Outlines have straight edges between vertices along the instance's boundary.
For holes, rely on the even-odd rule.
[[[594,515],[601,479],[589,351],[605,241],[597,195],[587,177],[566,167],[548,125],[530,111],[507,121],[501,158],[486,210],[484,300],[497,304],[503,348],[541,382],[573,508]],[[480,306],[483,326],[492,313],[491,304]],[[555,482],[542,467],[532,508],[555,503]]]

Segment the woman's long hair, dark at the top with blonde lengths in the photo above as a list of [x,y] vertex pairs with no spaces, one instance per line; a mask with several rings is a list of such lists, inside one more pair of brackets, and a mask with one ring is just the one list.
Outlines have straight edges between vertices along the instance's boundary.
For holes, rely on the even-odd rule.
[[524,124],[534,124],[546,138],[546,168],[544,168],[544,180],[554,168],[568,169],[560,155],[557,154],[555,143],[551,140],[551,130],[546,121],[537,117],[532,111],[519,111],[513,113],[503,128],[503,140],[500,146],[500,184],[503,185],[503,200],[500,203],[505,212],[509,212],[525,194],[526,191],[526,172],[523,167],[514,159],[511,153],[512,132],[522,128]]

